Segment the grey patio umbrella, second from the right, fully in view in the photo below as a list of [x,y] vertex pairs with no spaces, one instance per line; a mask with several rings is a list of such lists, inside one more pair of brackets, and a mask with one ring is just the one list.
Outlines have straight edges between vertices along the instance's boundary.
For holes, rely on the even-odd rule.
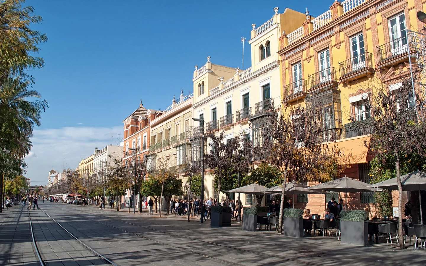
[[361,182],[347,176],[338,178],[336,180],[331,180],[316,186],[311,186],[310,190],[323,190],[323,191],[334,191],[334,192],[345,192],[345,205],[348,208],[348,203],[346,200],[347,192],[374,192],[381,191],[381,189],[375,189],[368,187],[370,184]]

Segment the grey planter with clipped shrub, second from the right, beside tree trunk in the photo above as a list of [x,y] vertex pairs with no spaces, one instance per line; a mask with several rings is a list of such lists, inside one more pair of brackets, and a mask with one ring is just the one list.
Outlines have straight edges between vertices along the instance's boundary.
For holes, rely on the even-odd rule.
[[288,237],[303,237],[303,211],[284,209],[282,212],[283,234]]

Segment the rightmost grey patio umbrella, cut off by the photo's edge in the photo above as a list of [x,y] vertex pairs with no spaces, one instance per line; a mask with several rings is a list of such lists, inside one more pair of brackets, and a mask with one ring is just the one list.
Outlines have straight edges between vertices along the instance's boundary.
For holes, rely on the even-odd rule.
[[[413,190],[419,191],[420,222],[423,224],[422,197],[420,195],[420,190],[426,189],[426,173],[415,171],[409,174],[404,174],[401,176],[401,185],[402,185],[403,191],[413,191]],[[389,180],[372,184],[369,187],[398,190],[398,183],[395,177]]]

